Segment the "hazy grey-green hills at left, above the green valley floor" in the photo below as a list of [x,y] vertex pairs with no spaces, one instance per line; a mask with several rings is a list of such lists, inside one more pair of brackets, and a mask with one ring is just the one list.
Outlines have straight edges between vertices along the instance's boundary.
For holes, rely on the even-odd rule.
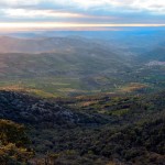
[[129,59],[108,46],[82,38],[0,37],[0,64],[1,76],[87,76],[116,73],[129,67]]

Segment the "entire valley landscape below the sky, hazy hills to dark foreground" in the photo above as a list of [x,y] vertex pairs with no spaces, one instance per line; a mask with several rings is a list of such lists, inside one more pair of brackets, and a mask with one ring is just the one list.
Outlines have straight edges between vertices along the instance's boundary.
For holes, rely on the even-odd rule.
[[1,36],[0,162],[164,165],[161,34]]

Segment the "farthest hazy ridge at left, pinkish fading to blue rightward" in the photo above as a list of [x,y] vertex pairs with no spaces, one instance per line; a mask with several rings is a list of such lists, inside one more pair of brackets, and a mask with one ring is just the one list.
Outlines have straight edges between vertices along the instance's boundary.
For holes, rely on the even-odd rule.
[[[75,48],[102,47],[96,42],[82,37],[33,37],[19,38],[0,36],[0,53],[45,53],[72,52]],[[108,48],[108,47],[106,47]],[[112,48],[112,47],[111,47]]]

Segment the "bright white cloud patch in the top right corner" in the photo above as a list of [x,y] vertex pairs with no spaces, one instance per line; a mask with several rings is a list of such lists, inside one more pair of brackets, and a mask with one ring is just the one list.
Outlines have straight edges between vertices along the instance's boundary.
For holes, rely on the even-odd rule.
[[122,9],[124,12],[157,12],[165,14],[165,1],[164,0],[73,0],[78,7],[85,9],[102,8],[103,10],[116,10]]

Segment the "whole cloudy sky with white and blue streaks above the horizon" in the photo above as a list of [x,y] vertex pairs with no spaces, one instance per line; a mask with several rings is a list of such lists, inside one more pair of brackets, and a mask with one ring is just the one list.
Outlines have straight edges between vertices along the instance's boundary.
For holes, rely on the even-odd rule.
[[0,30],[165,26],[165,0],[0,0]]

